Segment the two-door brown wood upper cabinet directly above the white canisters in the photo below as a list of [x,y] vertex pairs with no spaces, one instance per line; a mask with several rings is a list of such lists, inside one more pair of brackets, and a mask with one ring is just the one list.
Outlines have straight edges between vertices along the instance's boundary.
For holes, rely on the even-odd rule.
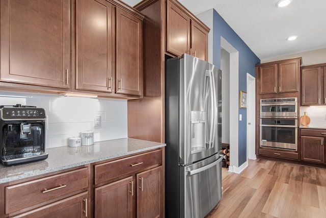
[[142,95],[142,16],[76,1],[76,89]]

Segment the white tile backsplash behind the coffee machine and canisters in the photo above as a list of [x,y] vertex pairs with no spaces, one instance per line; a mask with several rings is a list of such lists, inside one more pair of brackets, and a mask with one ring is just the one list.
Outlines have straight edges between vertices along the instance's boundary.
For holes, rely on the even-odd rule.
[[[31,105],[46,111],[46,148],[68,145],[70,137],[94,131],[94,141],[127,137],[127,100],[0,91],[0,105]],[[96,115],[101,126],[94,127]]]

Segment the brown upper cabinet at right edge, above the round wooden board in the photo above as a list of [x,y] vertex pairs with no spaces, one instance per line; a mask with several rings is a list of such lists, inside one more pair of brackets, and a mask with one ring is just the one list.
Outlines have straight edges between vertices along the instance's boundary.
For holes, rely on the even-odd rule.
[[301,105],[326,105],[326,64],[301,67]]

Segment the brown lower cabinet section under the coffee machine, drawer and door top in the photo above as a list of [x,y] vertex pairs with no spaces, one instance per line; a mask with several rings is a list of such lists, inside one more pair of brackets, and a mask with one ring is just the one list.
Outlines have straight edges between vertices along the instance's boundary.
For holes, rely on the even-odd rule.
[[2,185],[0,217],[88,217],[89,167]]

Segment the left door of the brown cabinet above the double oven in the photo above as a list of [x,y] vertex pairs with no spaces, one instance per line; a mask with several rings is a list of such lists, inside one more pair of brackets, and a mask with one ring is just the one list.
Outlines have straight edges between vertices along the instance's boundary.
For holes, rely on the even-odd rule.
[[277,64],[259,67],[259,94],[277,93]]

